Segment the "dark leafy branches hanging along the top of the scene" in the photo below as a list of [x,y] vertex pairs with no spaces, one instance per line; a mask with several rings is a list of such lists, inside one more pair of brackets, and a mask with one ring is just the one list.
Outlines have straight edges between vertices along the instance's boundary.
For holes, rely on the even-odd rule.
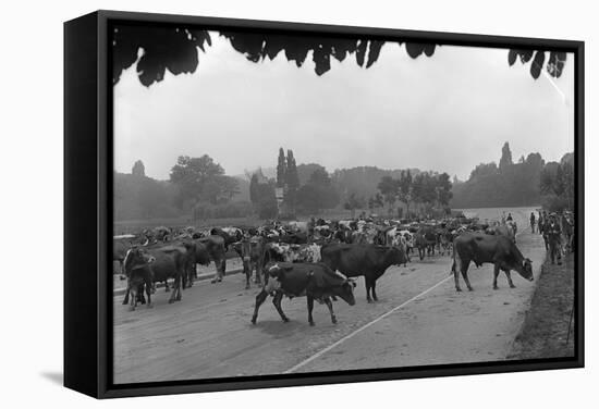
[[[353,57],[360,67],[369,69],[379,59],[386,42],[366,38],[335,38],[309,35],[283,35],[221,32],[231,47],[254,63],[273,60],[281,52],[290,62],[302,66],[311,52],[314,71],[322,75],[331,70],[331,58],[339,62]],[[416,59],[419,55],[432,57],[438,47],[435,44],[396,41],[404,46],[407,54]],[[198,65],[197,49],[206,52],[212,45],[210,34],[205,29],[181,27],[119,26],[112,33],[112,83],[117,84],[123,70],[137,61],[139,82],[149,87],[161,82],[166,71],[173,75],[194,73]],[[138,54],[139,50],[143,50]],[[513,65],[519,59],[530,63],[530,74],[539,77],[546,60],[545,51],[510,50],[508,62]],[[566,54],[550,52],[547,72],[559,77],[564,67]]]

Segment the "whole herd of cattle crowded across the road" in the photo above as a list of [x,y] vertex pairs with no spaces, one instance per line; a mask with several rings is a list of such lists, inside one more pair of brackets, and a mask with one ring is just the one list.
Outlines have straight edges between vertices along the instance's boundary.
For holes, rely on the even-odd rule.
[[[442,221],[407,222],[390,220],[346,220],[269,223],[259,227],[156,227],[138,234],[114,236],[113,260],[119,261],[127,281],[123,305],[134,310],[137,303],[151,307],[156,283],[172,293],[169,302],[181,300],[182,290],[197,278],[197,264],[215,263],[212,283],[223,280],[231,255],[243,262],[246,288],[250,280],[261,287],[256,296],[256,323],[260,305],[272,296],[283,321],[284,296],[307,298],[308,322],[314,325],[314,300],[325,303],[337,322],[332,302],[337,297],[355,303],[354,277],[364,276],[368,302],[377,301],[377,280],[391,265],[405,265],[412,255],[425,257],[453,255],[451,271],[455,289],[461,290],[462,274],[469,290],[467,270],[472,261],[494,264],[493,288],[503,271],[513,287],[510,271],[533,280],[530,260],[515,245],[515,223],[481,223],[452,218]],[[147,297],[147,298],[146,298]]]

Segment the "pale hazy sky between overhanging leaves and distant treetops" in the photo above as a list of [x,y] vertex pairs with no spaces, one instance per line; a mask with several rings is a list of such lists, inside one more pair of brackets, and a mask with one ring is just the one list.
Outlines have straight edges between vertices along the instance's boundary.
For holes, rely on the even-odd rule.
[[114,87],[114,165],[167,179],[179,156],[209,154],[227,174],[277,164],[279,147],[297,163],[332,172],[376,165],[419,168],[467,178],[499,162],[574,149],[574,60],[561,78],[534,80],[529,65],[508,65],[508,50],[443,46],[411,59],[388,42],[368,70],[350,55],[322,76],[311,54],[297,69],[281,52],[252,63],[211,33],[194,74],[144,87],[135,64]]

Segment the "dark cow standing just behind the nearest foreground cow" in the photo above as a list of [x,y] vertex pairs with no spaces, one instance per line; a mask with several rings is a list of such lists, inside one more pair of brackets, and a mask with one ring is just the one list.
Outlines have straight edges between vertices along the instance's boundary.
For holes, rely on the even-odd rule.
[[407,262],[402,249],[375,245],[330,244],[322,246],[320,255],[322,262],[333,271],[340,271],[349,277],[364,275],[368,302],[372,302],[372,299],[378,301],[377,280],[387,269]]

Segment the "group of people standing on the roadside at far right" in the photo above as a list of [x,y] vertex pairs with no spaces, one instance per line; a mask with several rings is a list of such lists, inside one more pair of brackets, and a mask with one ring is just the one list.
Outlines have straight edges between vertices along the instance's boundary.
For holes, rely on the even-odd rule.
[[563,213],[558,215],[555,212],[548,213],[547,210],[539,212],[539,216],[535,212],[530,213],[530,230],[535,233],[535,226],[538,234],[541,234],[545,239],[545,248],[549,251],[551,264],[558,261],[562,263],[562,252],[565,250],[574,250],[574,223],[569,216]]

